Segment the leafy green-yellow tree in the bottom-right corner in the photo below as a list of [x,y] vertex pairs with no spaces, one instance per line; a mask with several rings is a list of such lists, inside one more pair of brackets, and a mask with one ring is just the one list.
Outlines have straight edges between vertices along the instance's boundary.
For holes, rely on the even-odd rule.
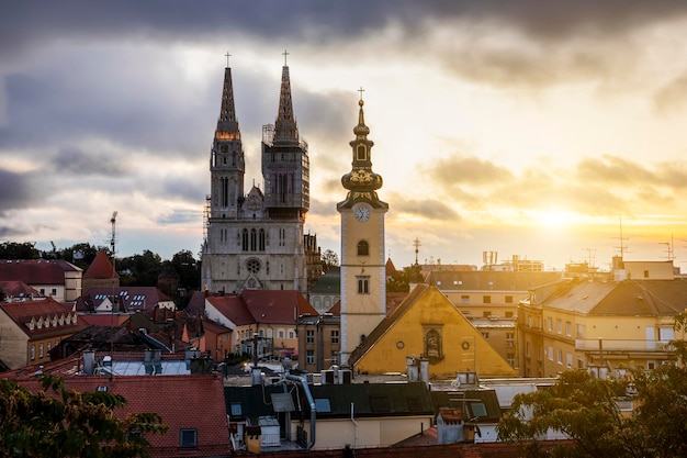
[[[678,315],[683,332],[687,315]],[[568,370],[550,389],[518,394],[497,431],[503,440],[527,443],[528,457],[687,457],[687,345],[671,343],[675,361],[652,371],[630,369],[618,379],[597,379]],[[620,412],[629,400],[633,411]],[[572,445],[544,448],[536,439],[548,431],[564,433]]]

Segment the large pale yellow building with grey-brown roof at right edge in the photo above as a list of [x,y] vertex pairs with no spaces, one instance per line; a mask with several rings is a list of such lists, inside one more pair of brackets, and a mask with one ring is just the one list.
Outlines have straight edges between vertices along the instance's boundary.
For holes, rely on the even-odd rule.
[[534,288],[518,317],[521,375],[653,369],[674,358],[669,342],[684,338],[673,324],[686,297],[684,279],[583,278]]

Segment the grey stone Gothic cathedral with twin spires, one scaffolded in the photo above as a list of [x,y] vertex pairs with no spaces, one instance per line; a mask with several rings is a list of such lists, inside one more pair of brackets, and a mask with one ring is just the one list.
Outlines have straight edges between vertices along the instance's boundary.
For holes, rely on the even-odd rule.
[[226,293],[296,290],[307,297],[308,282],[322,275],[322,256],[315,236],[303,230],[309,209],[309,158],[293,113],[286,62],[277,120],[262,126],[261,169],[262,189],[254,185],[246,193],[246,163],[227,62],[210,153],[203,289]]

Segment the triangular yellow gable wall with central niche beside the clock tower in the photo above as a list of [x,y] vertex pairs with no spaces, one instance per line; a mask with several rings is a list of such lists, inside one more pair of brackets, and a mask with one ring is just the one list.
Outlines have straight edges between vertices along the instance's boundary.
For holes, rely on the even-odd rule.
[[[465,370],[481,376],[517,375],[436,287],[417,288],[426,290],[387,319],[393,325],[356,361],[354,371],[405,372],[407,357],[424,356],[435,377],[454,377]],[[438,340],[436,348],[432,339]]]

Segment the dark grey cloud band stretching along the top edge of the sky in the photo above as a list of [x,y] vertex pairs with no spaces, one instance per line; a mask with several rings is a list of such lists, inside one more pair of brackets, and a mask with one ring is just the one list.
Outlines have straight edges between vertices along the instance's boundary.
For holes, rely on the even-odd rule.
[[274,38],[333,42],[374,32],[388,23],[417,31],[427,21],[464,20],[507,24],[537,38],[555,40],[581,33],[609,34],[673,19],[685,13],[680,0],[302,0],[260,2],[181,0],[5,2],[0,19],[4,55],[21,53],[26,43],[49,36],[121,37],[140,35],[194,41],[233,31]]

